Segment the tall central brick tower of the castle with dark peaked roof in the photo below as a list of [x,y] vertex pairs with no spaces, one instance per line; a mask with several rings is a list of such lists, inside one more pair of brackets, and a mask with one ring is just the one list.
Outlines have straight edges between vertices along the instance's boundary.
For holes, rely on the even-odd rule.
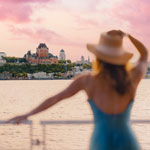
[[38,57],[48,57],[48,47],[45,43],[40,43],[36,49]]

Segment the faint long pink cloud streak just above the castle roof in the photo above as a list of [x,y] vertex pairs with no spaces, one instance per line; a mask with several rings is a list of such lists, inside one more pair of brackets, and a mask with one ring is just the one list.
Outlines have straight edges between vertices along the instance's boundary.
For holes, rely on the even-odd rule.
[[52,45],[65,45],[65,46],[77,46],[83,47],[83,44],[71,41],[66,37],[52,31],[50,29],[28,29],[28,28],[17,28],[15,26],[9,26],[10,32],[13,34],[13,39],[27,39],[34,42],[45,42]]

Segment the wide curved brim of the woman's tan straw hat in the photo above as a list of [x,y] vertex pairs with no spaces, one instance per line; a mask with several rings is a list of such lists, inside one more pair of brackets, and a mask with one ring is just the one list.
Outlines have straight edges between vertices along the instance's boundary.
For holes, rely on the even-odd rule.
[[115,65],[125,65],[133,56],[132,53],[124,52],[120,56],[110,56],[102,53],[100,50],[97,49],[96,44],[87,44],[87,49],[92,52],[94,55],[96,55],[97,58],[100,60],[103,60],[105,62],[115,64]]

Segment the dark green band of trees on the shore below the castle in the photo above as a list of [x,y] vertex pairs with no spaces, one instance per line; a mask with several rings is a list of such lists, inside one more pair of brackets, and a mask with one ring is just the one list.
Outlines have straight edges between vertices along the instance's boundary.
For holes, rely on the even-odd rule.
[[9,72],[13,77],[27,76],[27,73],[65,73],[72,71],[75,66],[82,66],[83,69],[91,69],[90,64],[75,64],[71,60],[59,60],[57,64],[29,64],[25,58],[3,57],[6,64],[0,66],[0,73]]

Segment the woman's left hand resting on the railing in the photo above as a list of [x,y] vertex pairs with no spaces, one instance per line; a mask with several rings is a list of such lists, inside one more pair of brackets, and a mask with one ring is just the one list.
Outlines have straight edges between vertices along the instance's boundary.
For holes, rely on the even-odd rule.
[[23,120],[27,120],[27,118],[28,118],[28,115],[21,115],[21,116],[14,117],[6,122],[13,123],[13,124],[20,124]]

